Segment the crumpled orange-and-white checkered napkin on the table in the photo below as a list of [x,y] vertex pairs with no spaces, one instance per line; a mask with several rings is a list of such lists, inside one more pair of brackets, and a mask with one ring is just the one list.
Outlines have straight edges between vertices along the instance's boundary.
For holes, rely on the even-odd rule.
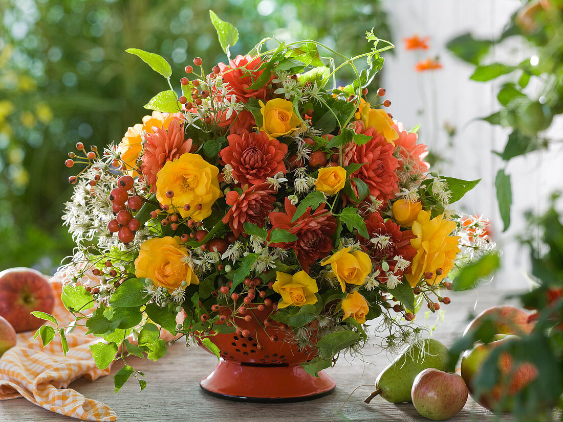
[[[58,321],[73,320],[60,300],[60,281],[52,280],[52,284],[55,288],[53,316]],[[86,328],[77,327],[66,334],[69,346],[66,357],[58,337],[43,348],[40,337],[33,340],[34,332],[17,334],[17,345],[0,358],[0,400],[25,397],[38,406],[72,418],[117,420],[115,412],[104,403],[67,388],[81,376],[93,381],[109,375],[111,370],[111,365],[103,370],[96,367],[89,346],[101,339],[85,333]]]

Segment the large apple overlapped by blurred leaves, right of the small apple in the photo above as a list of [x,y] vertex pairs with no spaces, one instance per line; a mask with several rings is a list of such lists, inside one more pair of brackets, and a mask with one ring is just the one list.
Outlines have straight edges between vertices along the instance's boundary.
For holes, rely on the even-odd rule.
[[[475,394],[476,388],[473,384],[475,376],[481,370],[490,352],[512,339],[519,339],[519,337],[516,335],[497,334],[494,337],[494,341],[489,344],[477,343],[472,350],[463,353],[461,375],[469,388],[471,397],[489,410],[511,411],[513,407],[512,396],[519,393],[538,376],[538,369],[534,364],[531,362],[521,362],[515,367],[510,353],[503,352],[498,359],[500,370],[499,382],[488,391],[481,391],[479,396]],[[503,408],[499,409],[504,397],[507,397],[507,400],[503,403]]]

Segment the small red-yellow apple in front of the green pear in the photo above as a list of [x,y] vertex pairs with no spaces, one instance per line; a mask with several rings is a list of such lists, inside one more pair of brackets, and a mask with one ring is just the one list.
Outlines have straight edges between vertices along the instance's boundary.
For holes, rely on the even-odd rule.
[[410,394],[419,414],[432,420],[444,420],[463,409],[468,391],[458,374],[428,368],[414,379]]

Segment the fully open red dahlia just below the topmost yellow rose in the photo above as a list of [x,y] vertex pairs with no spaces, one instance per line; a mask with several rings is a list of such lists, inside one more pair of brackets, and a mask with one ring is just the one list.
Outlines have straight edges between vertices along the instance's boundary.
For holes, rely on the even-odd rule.
[[221,149],[221,164],[233,167],[233,176],[241,185],[257,185],[267,177],[286,173],[283,159],[287,145],[271,139],[264,131],[243,130],[227,137],[229,146]]

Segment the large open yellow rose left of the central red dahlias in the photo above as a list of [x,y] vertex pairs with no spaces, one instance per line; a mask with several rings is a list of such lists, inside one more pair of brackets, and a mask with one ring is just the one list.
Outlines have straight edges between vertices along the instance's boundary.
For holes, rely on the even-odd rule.
[[[202,156],[186,152],[166,164],[157,173],[157,199],[169,205],[168,212],[179,212],[195,221],[211,215],[211,206],[222,196],[217,175],[219,169]],[[174,194],[168,198],[166,193]],[[189,205],[189,210],[184,206]]]

